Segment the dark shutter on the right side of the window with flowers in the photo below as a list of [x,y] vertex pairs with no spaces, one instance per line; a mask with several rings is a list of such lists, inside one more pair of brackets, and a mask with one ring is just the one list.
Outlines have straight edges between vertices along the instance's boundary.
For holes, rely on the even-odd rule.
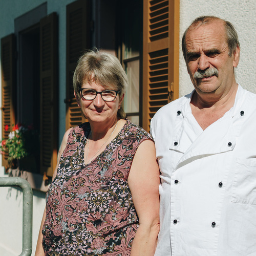
[[57,163],[57,15],[40,20],[40,172]]

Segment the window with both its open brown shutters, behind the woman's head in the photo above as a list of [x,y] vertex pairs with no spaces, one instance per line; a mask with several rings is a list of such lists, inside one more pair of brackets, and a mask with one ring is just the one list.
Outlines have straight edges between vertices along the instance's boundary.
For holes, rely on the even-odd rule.
[[179,0],[78,0],[67,6],[66,130],[85,121],[72,77],[92,42],[117,54],[129,79],[123,101],[127,118],[149,131],[156,111],[179,95]]

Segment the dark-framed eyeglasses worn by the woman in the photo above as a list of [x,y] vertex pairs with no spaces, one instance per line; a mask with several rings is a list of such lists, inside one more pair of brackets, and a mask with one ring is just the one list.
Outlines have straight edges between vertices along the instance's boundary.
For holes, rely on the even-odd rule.
[[97,96],[97,94],[99,93],[101,98],[104,100],[104,101],[114,101],[117,94],[120,92],[120,91],[114,91],[114,90],[104,90],[102,92],[97,92],[93,89],[87,89],[87,88],[81,88],[79,89],[83,99],[86,99],[86,100],[94,100]]

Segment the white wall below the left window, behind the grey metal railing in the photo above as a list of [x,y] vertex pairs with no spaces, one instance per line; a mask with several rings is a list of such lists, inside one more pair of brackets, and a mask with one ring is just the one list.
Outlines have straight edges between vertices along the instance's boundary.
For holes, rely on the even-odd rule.
[[[0,170],[0,176],[5,176],[3,168]],[[14,187],[0,187],[0,203],[0,255],[17,256],[22,252],[22,190]],[[45,193],[33,190],[33,251],[31,255],[35,253],[44,208]]]

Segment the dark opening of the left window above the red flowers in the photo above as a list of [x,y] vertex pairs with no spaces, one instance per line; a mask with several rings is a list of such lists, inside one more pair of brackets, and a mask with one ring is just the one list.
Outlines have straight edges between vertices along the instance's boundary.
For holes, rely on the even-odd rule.
[[[17,87],[16,120],[32,125],[40,131],[40,26],[37,23],[19,32],[19,81]],[[34,158],[30,164],[20,166],[28,171],[40,173],[40,151],[35,146]],[[23,162],[20,162],[23,164]]]

